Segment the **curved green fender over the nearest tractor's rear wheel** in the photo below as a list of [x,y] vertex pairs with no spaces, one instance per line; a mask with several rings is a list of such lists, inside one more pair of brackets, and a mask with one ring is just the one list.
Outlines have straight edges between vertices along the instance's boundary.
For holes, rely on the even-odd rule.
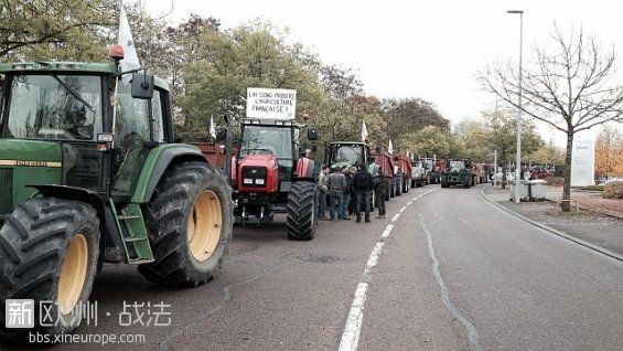
[[170,166],[185,161],[206,162],[197,147],[184,143],[162,145],[149,151],[132,194],[131,202],[147,203],[151,200],[155,187]]

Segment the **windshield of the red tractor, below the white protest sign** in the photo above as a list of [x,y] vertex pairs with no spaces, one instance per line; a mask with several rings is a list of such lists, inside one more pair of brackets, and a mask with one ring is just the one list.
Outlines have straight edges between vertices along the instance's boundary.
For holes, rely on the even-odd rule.
[[292,135],[290,128],[245,126],[240,155],[270,152],[279,159],[292,159]]

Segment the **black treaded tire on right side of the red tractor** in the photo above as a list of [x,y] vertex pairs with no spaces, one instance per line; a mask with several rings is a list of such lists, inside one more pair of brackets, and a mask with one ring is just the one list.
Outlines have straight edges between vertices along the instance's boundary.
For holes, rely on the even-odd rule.
[[288,238],[311,241],[318,225],[318,187],[313,182],[293,182],[288,193],[286,224]]

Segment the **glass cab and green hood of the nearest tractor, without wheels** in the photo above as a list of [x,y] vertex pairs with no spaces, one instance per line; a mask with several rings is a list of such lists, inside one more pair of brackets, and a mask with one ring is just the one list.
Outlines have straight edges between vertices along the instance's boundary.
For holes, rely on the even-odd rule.
[[148,151],[172,139],[160,79],[138,97],[132,84],[119,84],[112,102],[112,63],[2,64],[0,73],[0,179],[10,184],[0,192],[0,214],[41,191],[37,184],[123,202]]

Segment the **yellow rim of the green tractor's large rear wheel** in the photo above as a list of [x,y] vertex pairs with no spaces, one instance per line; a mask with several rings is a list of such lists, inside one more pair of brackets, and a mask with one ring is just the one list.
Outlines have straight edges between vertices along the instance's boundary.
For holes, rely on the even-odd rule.
[[213,191],[203,191],[189,215],[189,249],[198,262],[205,262],[214,254],[223,227],[221,200]]

